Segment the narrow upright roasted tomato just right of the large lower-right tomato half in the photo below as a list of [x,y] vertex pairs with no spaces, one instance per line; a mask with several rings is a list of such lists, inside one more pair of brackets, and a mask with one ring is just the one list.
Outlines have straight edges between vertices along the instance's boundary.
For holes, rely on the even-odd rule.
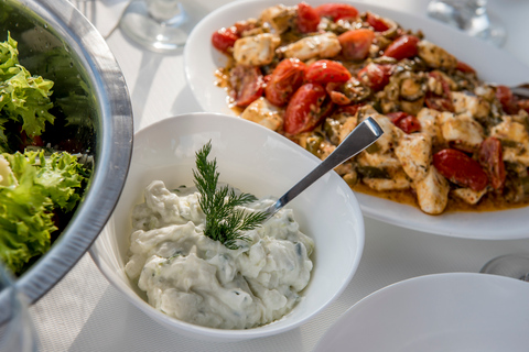
[[505,185],[505,165],[501,142],[489,136],[479,145],[478,160],[482,167],[488,174],[494,189],[501,189]]

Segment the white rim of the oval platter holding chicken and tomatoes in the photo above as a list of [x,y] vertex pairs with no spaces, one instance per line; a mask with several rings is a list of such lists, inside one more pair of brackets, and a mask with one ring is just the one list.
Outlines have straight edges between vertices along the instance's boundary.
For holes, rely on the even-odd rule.
[[[206,18],[204,18],[195,26],[195,29],[190,35],[190,43],[195,43],[195,44],[188,45],[184,48],[184,70],[185,70],[187,84],[194,97],[197,99],[198,103],[201,105],[204,111],[226,113],[226,111],[229,110],[227,107],[227,103],[225,108],[226,110],[220,111],[220,109],[209,107],[206,102],[206,99],[201,99],[201,97],[204,95],[203,90],[201,89],[203,88],[203,86],[195,80],[196,73],[194,72],[194,69],[192,69],[193,64],[190,64],[192,63],[192,57],[194,55],[193,51],[195,45],[198,45],[198,46],[206,45],[206,47],[210,48],[209,42],[207,42],[206,44],[204,43],[196,44],[197,40],[204,36],[203,32],[206,30],[210,30],[208,25],[209,22],[215,21],[220,14],[226,14],[227,12],[234,11],[237,8],[250,7],[251,4],[256,4],[256,6],[259,4],[259,7],[266,7],[266,6],[277,4],[280,2],[291,4],[298,1],[296,0],[287,0],[287,1],[240,0],[240,1],[225,4],[216,9],[215,11],[210,12]],[[323,3],[328,1],[312,0],[307,2]],[[475,56],[476,54],[472,53],[472,48],[478,47],[481,50],[486,50],[487,53],[492,53],[493,54],[492,56],[495,59],[506,61],[508,63],[507,67],[509,67],[507,72],[522,69],[523,72],[527,73],[527,76],[529,76],[529,67],[523,65],[516,57],[509,55],[508,53],[497,48],[496,46],[489,43],[483,42],[475,37],[471,37],[462,33],[461,31],[457,31],[456,29],[453,29],[442,22],[430,19],[425,15],[419,15],[417,13],[410,13],[410,12],[401,11],[393,8],[388,8],[379,4],[371,4],[371,3],[360,2],[360,1],[341,0],[339,2],[350,3],[357,7],[360,12],[371,10],[376,13],[380,13],[381,15],[386,15],[390,18],[397,15],[399,19],[400,18],[409,19],[410,23],[403,22],[401,20],[397,20],[397,22],[400,23],[406,29],[413,28],[415,30],[422,30],[424,33],[428,33],[429,31],[443,32],[442,34],[439,34],[439,35],[442,35],[443,37],[451,37],[451,38],[456,37],[457,43],[462,42],[465,48],[467,47],[471,48],[468,50],[468,52],[471,53],[466,53],[466,51],[462,52],[462,50],[456,51],[458,58],[465,59],[465,57]],[[255,13],[253,15],[258,15],[258,13]],[[428,24],[428,29],[420,28],[420,26],[424,26],[424,24]],[[431,36],[432,36],[432,33],[427,34],[425,38],[429,40],[431,38]],[[432,40],[432,42],[438,43],[439,40],[435,40],[435,41]],[[451,47],[462,45],[462,44],[455,43],[456,41],[449,41],[449,42],[452,43],[449,45]],[[442,43],[441,45],[443,47],[446,47],[446,44],[447,43]],[[454,51],[451,50],[451,52],[454,52]],[[479,66],[483,65],[482,63],[478,63],[478,64]],[[488,62],[484,65],[486,67],[492,66],[492,64],[489,64]],[[482,73],[481,76],[483,76],[485,70],[478,69],[478,72],[481,72]],[[485,72],[485,74],[487,74],[487,72]],[[493,73],[493,75],[495,74]],[[503,84],[506,84],[506,85],[514,84],[515,76],[518,77],[518,75],[514,75],[512,73],[510,73],[508,77],[508,81],[503,81]],[[212,86],[214,86],[214,80],[215,80],[215,77],[212,73],[210,75]],[[216,87],[216,88],[222,89],[219,87]],[[234,112],[231,113],[235,116]],[[357,196],[363,213],[366,217],[378,220],[378,221],[382,221],[386,223],[390,223],[400,228],[422,231],[427,233],[433,233],[438,235],[446,235],[446,237],[463,238],[463,239],[476,239],[476,240],[515,240],[515,239],[529,238],[529,230],[525,229],[522,223],[520,223],[520,221],[518,221],[518,223],[516,221],[517,220],[516,218],[529,216],[529,206],[521,207],[521,208],[506,209],[506,210],[468,211],[468,212],[458,211],[458,212],[444,212],[440,216],[430,216],[430,215],[423,213],[419,208],[414,206],[398,204],[381,197],[367,195],[359,191],[355,191],[355,195]],[[380,211],[381,208],[385,209],[385,212]],[[468,215],[473,215],[473,219],[466,219]],[[499,219],[497,219],[498,217]],[[503,220],[505,217],[507,218]],[[492,220],[490,218],[495,218],[495,219]],[[443,219],[443,221],[440,221],[440,219]],[[490,226],[492,223],[495,223],[497,221],[500,221],[500,224],[506,224],[506,226],[503,226],[503,227]]]

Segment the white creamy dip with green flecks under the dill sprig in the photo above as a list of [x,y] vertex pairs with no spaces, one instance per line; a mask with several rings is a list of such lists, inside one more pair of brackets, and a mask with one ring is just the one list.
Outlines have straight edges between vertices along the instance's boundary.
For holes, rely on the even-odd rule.
[[[248,231],[238,250],[204,235],[198,193],[179,195],[161,180],[132,211],[128,276],[154,308],[187,322],[248,329],[288,314],[309,284],[314,249],[291,209]],[[263,210],[262,199],[246,211]]]

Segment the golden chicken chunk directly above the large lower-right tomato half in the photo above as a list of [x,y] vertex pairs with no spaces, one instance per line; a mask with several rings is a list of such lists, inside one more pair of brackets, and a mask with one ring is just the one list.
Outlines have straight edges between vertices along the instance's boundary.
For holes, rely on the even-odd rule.
[[439,124],[443,139],[447,142],[456,142],[473,148],[479,147],[483,142],[483,127],[466,113],[454,116],[452,112],[442,112],[439,116]]

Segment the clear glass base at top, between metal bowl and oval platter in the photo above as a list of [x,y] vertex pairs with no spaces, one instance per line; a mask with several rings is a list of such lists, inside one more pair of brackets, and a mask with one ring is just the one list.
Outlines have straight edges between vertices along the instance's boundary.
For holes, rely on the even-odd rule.
[[153,52],[173,52],[185,45],[196,20],[179,0],[132,0],[119,28],[141,46]]

